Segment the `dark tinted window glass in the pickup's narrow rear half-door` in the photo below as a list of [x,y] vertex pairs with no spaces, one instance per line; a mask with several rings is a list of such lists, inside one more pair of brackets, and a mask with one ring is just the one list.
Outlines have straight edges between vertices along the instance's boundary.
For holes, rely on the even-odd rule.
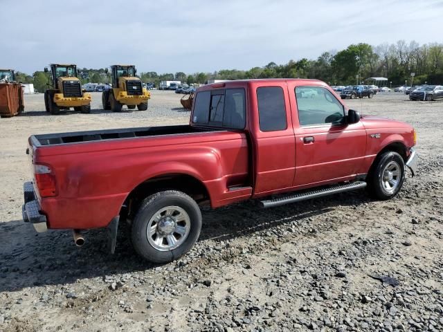
[[258,88],[257,102],[261,131],[278,131],[287,128],[284,95],[280,86]]

